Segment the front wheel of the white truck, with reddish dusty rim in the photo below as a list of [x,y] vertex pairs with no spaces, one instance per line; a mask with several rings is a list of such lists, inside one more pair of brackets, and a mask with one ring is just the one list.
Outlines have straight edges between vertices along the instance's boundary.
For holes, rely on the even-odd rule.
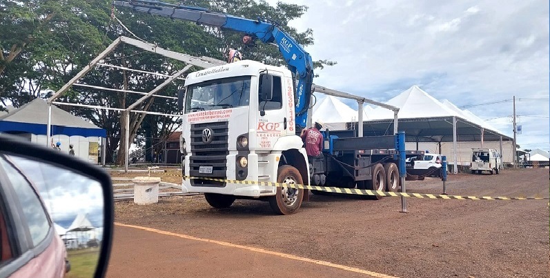
[[[277,172],[277,183],[304,184],[302,175],[293,166],[281,166]],[[278,215],[291,215],[302,206],[302,197],[303,189],[277,187],[275,196],[269,197],[269,205]]]

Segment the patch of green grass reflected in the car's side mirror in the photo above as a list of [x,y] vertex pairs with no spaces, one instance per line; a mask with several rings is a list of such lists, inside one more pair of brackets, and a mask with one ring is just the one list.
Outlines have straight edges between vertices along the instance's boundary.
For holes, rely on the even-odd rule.
[[99,259],[99,248],[84,250],[68,250],[67,257],[70,262],[70,271],[67,278],[93,277]]

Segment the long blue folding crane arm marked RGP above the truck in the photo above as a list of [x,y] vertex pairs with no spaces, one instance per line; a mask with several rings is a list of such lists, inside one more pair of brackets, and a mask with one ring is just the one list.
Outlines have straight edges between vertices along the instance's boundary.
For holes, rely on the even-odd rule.
[[133,8],[138,12],[156,14],[171,19],[193,21],[198,24],[244,32],[264,43],[275,43],[288,69],[297,74],[295,114],[297,130],[306,127],[307,108],[313,83],[313,61],[302,46],[276,24],[261,20],[244,19],[230,14],[212,12],[205,8],[176,5],[151,0],[113,1],[115,6]]

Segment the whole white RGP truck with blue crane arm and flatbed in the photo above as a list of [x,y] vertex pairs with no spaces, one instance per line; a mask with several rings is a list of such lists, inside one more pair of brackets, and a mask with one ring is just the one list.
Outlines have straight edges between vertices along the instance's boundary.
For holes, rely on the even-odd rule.
[[[237,61],[192,72],[178,103],[183,192],[202,192],[215,208],[263,199],[281,215],[296,212],[308,190],[258,182],[396,191],[404,178],[404,133],[358,138],[324,132],[323,156],[309,158],[306,128],[313,61],[276,23],[149,0],[114,1],[139,12],[244,32],[248,45],[275,44],[288,69]],[[413,152],[416,155],[417,152]]]

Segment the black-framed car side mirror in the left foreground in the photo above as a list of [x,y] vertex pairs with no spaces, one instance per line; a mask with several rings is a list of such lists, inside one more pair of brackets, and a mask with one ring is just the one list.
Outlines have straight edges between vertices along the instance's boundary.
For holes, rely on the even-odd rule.
[[[0,135],[0,277],[104,277],[114,221],[109,175],[23,140]],[[37,267],[45,257],[48,267]]]

